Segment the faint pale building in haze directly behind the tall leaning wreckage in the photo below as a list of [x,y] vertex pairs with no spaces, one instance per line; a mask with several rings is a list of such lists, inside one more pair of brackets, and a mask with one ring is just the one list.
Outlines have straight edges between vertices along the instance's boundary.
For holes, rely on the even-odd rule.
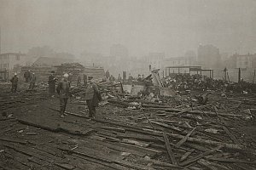
[[151,65],[152,70],[161,69],[163,64],[163,59],[165,59],[165,53],[149,53],[146,56],[148,65]]

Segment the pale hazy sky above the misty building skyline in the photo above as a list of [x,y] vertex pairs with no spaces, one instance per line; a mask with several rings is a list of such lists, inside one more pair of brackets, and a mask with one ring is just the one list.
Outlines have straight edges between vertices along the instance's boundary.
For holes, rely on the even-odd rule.
[[256,53],[255,0],[0,0],[2,53],[49,45],[56,51],[178,56],[212,43]]

